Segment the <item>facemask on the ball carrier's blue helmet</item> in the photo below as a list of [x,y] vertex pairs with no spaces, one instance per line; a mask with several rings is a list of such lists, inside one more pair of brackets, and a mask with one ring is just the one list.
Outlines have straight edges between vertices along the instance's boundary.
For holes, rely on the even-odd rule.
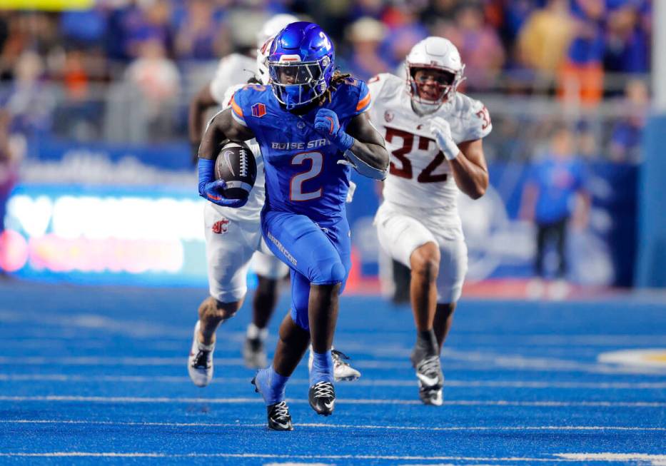
[[333,62],[328,56],[317,61],[299,61],[298,56],[281,56],[268,60],[268,73],[276,98],[291,110],[314,101],[326,92],[333,75]]

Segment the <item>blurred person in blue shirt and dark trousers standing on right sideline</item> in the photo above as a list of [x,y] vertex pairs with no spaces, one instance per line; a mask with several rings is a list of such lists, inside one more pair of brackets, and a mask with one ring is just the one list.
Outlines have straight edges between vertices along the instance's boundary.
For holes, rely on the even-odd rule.
[[[539,277],[545,277],[545,252],[552,243],[558,258],[555,275],[565,277],[568,223],[573,216],[577,228],[587,225],[590,198],[585,191],[585,168],[573,153],[573,143],[569,129],[557,126],[548,153],[533,163],[523,191],[520,216],[537,227],[535,273]],[[576,195],[582,200],[578,209]]]

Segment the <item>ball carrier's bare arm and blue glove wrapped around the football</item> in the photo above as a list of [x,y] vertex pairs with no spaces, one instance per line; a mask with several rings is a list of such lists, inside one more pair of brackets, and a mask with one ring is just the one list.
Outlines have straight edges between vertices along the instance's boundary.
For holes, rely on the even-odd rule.
[[223,141],[247,141],[254,137],[254,133],[247,126],[238,123],[232,116],[232,108],[219,112],[208,123],[203,133],[198,151],[198,185],[199,196],[224,207],[243,207],[248,201],[245,199],[228,199],[224,197],[226,183],[215,179],[215,159],[220,151]]

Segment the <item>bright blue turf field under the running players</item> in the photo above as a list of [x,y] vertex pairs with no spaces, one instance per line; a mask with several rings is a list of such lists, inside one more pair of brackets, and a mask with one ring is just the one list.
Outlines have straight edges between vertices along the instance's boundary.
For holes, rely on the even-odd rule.
[[269,432],[240,359],[247,305],[218,333],[213,384],[187,377],[205,294],[0,283],[0,463],[666,464],[666,368],[597,362],[666,348],[663,296],[463,300],[443,407],[418,402],[408,308],[345,297],[335,341],[363,377],[338,383],[325,418],[301,365],[296,429]]

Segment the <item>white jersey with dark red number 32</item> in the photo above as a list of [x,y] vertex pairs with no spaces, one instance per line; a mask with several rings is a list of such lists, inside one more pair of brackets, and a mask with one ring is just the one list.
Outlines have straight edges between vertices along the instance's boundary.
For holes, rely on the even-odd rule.
[[439,215],[458,216],[458,186],[450,165],[430,133],[430,118],[441,116],[451,127],[453,141],[473,141],[488,135],[493,126],[483,103],[457,92],[453,101],[437,111],[418,116],[411,106],[404,79],[379,74],[368,81],[370,119],[386,140],[390,172],[384,181],[384,199],[398,206],[438,209]]

